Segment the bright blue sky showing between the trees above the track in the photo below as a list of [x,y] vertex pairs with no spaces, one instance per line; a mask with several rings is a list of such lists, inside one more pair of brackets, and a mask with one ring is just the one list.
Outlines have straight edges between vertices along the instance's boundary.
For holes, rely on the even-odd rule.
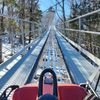
[[[59,0],[61,1],[61,0]],[[40,5],[40,9],[42,11],[47,10],[50,6],[55,4],[55,0],[40,0],[39,5]],[[58,13],[60,16],[62,16],[62,13],[60,7],[58,8]],[[68,2],[65,2],[65,13],[66,13],[66,17],[70,15],[70,6],[68,4]]]

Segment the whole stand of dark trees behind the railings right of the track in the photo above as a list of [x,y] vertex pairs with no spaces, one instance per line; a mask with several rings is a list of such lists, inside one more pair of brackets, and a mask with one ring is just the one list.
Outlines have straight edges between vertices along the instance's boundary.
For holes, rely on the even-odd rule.
[[[70,19],[100,9],[100,0],[72,0]],[[79,25],[80,24],[80,25]],[[100,32],[100,12],[81,18],[70,23],[69,28]],[[80,36],[79,36],[80,35]],[[72,40],[100,58],[100,35],[88,33],[71,33]],[[80,38],[80,41],[79,39]]]

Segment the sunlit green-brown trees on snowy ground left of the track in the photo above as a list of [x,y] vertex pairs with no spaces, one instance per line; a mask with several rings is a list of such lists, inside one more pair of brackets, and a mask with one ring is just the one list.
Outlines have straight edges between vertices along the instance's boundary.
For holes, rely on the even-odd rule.
[[[6,32],[9,33],[9,42],[11,42],[12,47],[14,43],[14,38],[17,34],[21,34],[20,42],[22,42],[22,37],[24,36],[24,42],[28,36],[29,42],[32,37],[35,37],[38,33],[36,29],[39,28],[40,19],[42,12],[38,5],[39,0],[0,0],[0,14],[4,14],[14,18],[21,18],[25,20],[32,21],[33,23],[28,23],[25,21],[13,20],[7,17],[0,16],[0,37]],[[35,32],[33,33],[33,30]],[[27,33],[27,36],[26,34]],[[0,38],[0,63],[2,62],[2,38]]]

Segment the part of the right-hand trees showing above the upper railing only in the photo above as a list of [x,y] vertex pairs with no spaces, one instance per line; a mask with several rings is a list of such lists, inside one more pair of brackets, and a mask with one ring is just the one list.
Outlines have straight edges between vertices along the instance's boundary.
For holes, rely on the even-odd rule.
[[100,0],[71,0],[71,18],[98,10]]

